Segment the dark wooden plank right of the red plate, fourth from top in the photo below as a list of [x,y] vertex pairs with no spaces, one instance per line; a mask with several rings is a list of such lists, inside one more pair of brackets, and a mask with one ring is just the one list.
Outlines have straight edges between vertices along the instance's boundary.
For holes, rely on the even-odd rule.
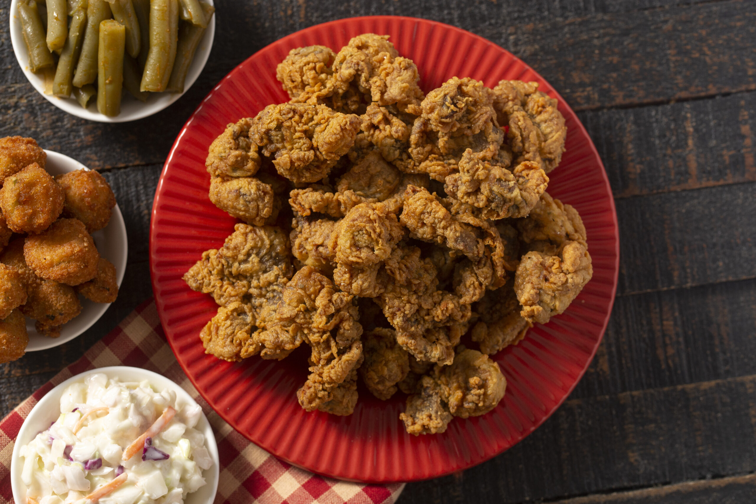
[[620,296],[573,398],[756,374],[756,280]]

